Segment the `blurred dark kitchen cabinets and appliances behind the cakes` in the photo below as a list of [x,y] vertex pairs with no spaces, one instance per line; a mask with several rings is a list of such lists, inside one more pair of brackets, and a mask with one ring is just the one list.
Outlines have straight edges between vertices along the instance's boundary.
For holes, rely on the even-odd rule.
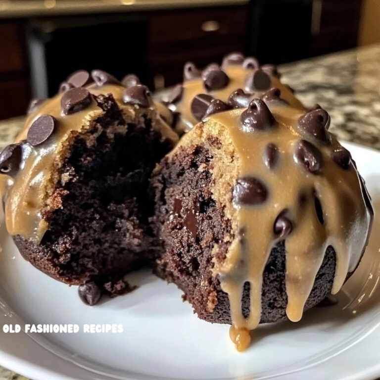
[[243,51],[284,63],[380,42],[380,0],[0,0],[0,119],[76,69],[160,89]]

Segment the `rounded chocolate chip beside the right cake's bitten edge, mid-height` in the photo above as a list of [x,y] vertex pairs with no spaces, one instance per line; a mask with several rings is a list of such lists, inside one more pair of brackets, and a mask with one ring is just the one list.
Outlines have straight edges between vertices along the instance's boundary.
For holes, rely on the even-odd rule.
[[263,203],[267,196],[268,190],[265,185],[254,177],[239,178],[233,190],[233,200],[236,206]]

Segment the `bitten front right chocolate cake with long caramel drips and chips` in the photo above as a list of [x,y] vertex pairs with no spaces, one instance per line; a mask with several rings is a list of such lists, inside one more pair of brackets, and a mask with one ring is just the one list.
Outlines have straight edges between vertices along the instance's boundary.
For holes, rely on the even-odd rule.
[[329,123],[253,99],[206,116],[153,172],[156,273],[199,318],[232,324],[238,350],[260,322],[299,321],[336,293],[367,245],[370,198]]

